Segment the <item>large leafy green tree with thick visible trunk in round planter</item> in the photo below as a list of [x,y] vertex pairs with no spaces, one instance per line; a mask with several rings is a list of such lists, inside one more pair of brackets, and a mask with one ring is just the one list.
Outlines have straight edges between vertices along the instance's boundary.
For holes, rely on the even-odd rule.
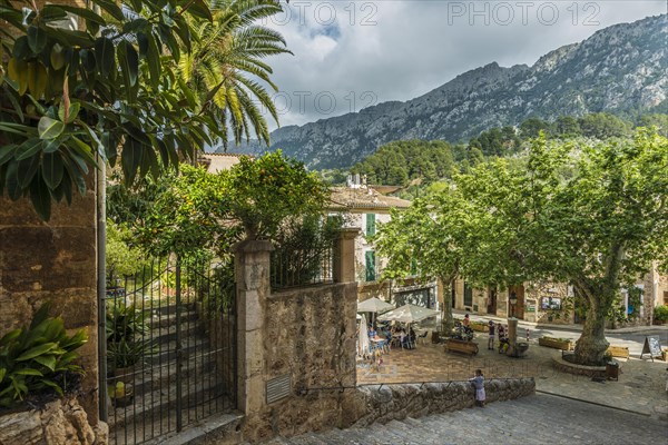
[[[561,176],[564,165],[572,177]],[[647,131],[592,147],[541,138],[523,169],[503,160],[479,166],[456,181],[470,212],[484,216],[466,277],[572,283],[588,304],[576,359],[600,364],[620,288],[633,288],[652,259],[668,258],[667,169],[668,141]]]

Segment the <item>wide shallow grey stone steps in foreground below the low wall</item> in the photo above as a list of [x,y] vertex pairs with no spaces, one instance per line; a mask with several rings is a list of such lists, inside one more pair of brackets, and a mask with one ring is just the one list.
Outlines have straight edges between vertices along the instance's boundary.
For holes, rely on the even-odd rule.
[[668,422],[546,394],[265,445],[668,444]]

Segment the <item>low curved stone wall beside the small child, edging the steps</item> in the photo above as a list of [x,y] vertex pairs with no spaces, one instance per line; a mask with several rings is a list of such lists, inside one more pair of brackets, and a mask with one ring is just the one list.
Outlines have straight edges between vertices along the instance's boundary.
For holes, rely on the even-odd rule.
[[[489,379],[484,383],[487,403],[510,400],[534,394],[533,378]],[[356,392],[347,415],[355,426],[385,424],[406,417],[422,417],[474,406],[475,390],[470,382],[366,385]]]

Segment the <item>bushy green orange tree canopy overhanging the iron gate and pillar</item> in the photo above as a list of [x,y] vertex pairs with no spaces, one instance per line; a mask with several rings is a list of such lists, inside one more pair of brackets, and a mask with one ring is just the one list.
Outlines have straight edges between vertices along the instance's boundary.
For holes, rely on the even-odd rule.
[[242,157],[229,170],[209,174],[183,165],[179,175],[146,180],[130,190],[108,187],[107,211],[131,229],[130,245],[150,255],[207,249],[219,257],[243,239],[275,239],[288,218],[322,215],[326,186],[281,150]]

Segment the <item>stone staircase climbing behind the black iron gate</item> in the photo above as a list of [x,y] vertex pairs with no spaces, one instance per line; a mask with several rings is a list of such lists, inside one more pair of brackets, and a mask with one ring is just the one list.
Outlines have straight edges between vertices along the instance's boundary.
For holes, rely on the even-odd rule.
[[[194,305],[180,314],[180,414],[184,427],[218,412],[228,411],[228,389],[220,378],[216,352]],[[174,306],[153,310],[150,338],[156,352],[137,368],[128,387],[134,397],[127,406],[109,403],[109,442],[115,445],[151,443],[176,431],[177,354]],[[109,380],[111,382],[111,380]]]

